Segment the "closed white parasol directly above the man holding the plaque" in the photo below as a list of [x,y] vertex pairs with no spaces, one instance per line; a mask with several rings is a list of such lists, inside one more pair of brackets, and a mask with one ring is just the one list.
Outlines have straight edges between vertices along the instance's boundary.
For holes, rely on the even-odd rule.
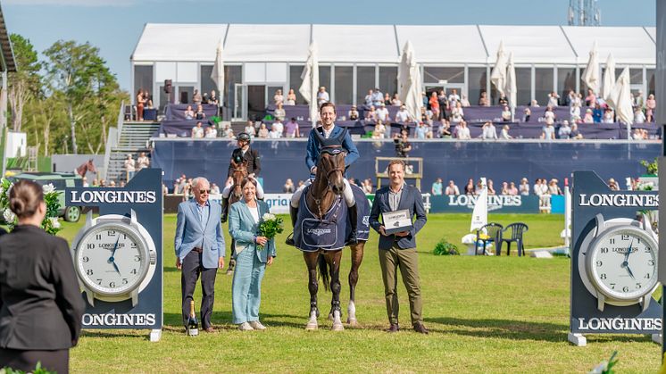
[[404,44],[403,54],[400,56],[398,65],[398,96],[403,99],[403,104],[412,118],[420,118],[420,108],[423,100],[420,93],[421,87],[420,70],[416,64],[416,57],[412,43],[407,40]]

